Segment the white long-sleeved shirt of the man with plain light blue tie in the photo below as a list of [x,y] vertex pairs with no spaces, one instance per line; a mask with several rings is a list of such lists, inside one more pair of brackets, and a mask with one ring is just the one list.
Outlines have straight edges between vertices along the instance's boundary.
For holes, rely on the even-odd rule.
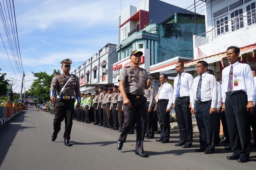
[[[179,81],[179,76],[180,74],[178,74],[175,78],[174,78],[174,89],[173,89],[173,96],[172,96],[172,103],[175,103],[175,99],[176,99],[176,91],[177,91],[177,87],[178,87],[178,81]],[[181,73],[181,77],[180,77],[180,97],[185,97],[185,96],[189,96],[190,100],[193,98],[192,97],[192,84],[193,84],[193,79],[194,77],[186,72],[182,72]]]

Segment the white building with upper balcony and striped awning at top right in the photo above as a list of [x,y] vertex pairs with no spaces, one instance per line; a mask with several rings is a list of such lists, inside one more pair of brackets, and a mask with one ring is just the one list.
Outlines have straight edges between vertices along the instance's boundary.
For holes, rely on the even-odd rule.
[[185,63],[191,67],[200,60],[211,65],[215,77],[221,81],[222,70],[228,66],[226,50],[240,47],[240,62],[252,69],[256,63],[256,0],[207,0],[205,2],[206,32],[193,36],[194,60]]

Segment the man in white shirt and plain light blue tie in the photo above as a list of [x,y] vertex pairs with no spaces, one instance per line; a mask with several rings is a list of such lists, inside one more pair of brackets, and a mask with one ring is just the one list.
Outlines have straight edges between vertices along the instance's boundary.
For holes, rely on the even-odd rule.
[[179,143],[175,143],[174,146],[182,146],[183,148],[191,148],[193,127],[192,127],[192,115],[191,115],[191,102],[193,97],[192,84],[194,77],[184,72],[184,64],[178,62],[175,66],[178,75],[174,78],[174,93],[172,97],[172,107],[175,110],[177,116],[177,123],[180,130]]

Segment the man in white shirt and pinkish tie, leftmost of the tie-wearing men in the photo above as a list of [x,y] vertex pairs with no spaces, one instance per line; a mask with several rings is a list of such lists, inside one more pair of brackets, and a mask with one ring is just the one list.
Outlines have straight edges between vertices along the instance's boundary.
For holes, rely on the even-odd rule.
[[161,74],[159,77],[161,86],[156,95],[157,116],[160,124],[161,134],[156,141],[169,143],[170,139],[170,111],[172,104],[172,85],[167,82],[167,75]]

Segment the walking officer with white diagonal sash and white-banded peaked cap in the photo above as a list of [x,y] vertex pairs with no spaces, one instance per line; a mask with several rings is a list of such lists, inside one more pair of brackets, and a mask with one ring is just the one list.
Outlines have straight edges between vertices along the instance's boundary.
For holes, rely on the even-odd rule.
[[79,78],[69,73],[72,64],[71,59],[64,59],[60,62],[63,73],[56,74],[51,82],[50,97],[51,102],[55,102],[54,93],[57,91],[55,102],[55,116],[53,120],[52,141],[55,141],[60,131],[61,122],[65,118],[64,144],[69,145],[70,133],[72,128],[72,118],[74,114],[75,93],[77,97],[77,107],[80,108],[80,86]]

